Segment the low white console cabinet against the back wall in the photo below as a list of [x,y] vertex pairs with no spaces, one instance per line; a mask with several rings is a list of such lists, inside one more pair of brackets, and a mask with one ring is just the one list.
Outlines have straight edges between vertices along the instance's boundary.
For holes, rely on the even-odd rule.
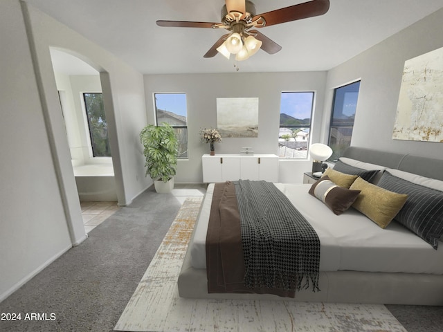
[[201,162],[204,183],[239,179],[278,182],[278,156],[275,154],[204,154]]

